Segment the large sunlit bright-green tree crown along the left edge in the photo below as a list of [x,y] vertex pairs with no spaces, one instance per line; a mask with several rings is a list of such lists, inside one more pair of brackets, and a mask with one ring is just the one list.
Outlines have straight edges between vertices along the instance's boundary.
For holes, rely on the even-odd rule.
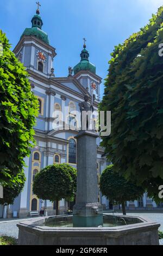
[[0,45],[0,183],[5,187],[21,174],[23,159],[30,154],[38,100],[1,30]]

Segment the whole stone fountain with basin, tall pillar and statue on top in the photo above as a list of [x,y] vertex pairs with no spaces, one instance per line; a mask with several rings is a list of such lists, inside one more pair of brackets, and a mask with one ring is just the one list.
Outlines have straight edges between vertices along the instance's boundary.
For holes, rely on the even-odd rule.
[[[80,104],[77,139],[77,196],[73,216],[37,218],[17,224],[19,245],[159,245],[160,225],[139,217],[103,215],[98,203],[98,134],[89,129],[93,106]],[[85,115],[86,114],[86,115]]]

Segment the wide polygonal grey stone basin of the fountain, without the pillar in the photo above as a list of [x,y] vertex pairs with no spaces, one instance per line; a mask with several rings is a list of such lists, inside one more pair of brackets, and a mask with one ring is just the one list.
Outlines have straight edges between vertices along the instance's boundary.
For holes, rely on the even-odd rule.
[[[72,216],[65,216],[70,218]],[[121,223],[114,225],[114,218]],[[56,218],[56,217],[50,217]],[[110,227],[73,228],[59,224],[63,216],[57,217],[57,225],[51,227],[49,217],[37,218],[17,224],[19,245],[159,245],[160,224],[140,217],[116,216],[110,218]],[[105,218],[105,217],[104,217]],[[124,221],[126,223],[124,223]],[[111,223],[112,222],[112,223]],[[53,222],[54,223],[54,222]],[[104,226],[105,226],[104,219]],[[48,227],[49,226],[49,227]]]

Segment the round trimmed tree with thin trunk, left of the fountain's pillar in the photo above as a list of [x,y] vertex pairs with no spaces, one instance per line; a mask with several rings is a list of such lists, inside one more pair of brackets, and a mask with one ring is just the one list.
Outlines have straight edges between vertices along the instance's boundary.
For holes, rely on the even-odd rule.
[[36,174],[33,192],[42,200],[56,202],[56,215],[59,214],[59,201],[72,200],[77,189],[77,171],[69,164],[47,166]]

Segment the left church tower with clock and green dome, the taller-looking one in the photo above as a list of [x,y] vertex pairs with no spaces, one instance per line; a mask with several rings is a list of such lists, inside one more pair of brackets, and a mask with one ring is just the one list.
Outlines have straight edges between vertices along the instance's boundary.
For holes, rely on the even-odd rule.
[[28,71],[50,78],[54,76],[53,59],[56,53],[55,48],[49,45],[47,33],[42,30],[40,4],[39,2],[37,4],[36,15],[31,21],[32,27],[24,30],[14,53]]

